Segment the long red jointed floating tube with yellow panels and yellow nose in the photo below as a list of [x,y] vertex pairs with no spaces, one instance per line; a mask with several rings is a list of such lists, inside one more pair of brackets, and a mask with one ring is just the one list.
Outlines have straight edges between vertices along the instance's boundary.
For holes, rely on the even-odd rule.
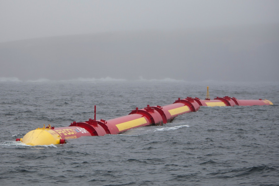
[[[208,90],[208,89],[207,89]],[[207,92],[208,93],[208,92]],[[27,145],[64,144],[68,139],[76,139],[82,136],[103,136],[106,134],[120,134],[127,130],[140,126],[163,125],[171,122],[176,116],[189,112],[196,112],[200,106],[252,106],[272,105],[269,100],[238,100],[234,97],[216,97],[210,100],[209,93],[205,100],[187,97],[175,100],[173,104],[165,106],[149,106],[132,110],[127,116],[110,120],[89,119],[85,122],[73,122],[70,126],[54,128],[50,125],[28,132],[22,139],[16,139]],[[94,110],[96,114],[96,107]]]

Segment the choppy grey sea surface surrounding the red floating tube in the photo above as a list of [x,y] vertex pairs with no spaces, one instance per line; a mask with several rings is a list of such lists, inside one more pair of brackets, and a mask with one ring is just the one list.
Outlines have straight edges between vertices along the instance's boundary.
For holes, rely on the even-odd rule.
[[[163,126],[67,144],[15,142],[51,124],[113,119],[178,98],[231,96],[274,105],[201,107]],[[279,185],[279,83],[122,81],[0,82],[0,185]]]

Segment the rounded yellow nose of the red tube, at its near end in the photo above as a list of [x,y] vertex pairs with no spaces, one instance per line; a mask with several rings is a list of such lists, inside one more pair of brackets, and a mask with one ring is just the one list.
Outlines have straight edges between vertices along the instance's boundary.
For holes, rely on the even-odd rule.
[[[59,144],[59,137],[51,135],[48,130],[36,129],[28,132],[22,138],[22,142],[27,145],[50,145],[50,144]],[[58,142],[58,143],[57,143]]]

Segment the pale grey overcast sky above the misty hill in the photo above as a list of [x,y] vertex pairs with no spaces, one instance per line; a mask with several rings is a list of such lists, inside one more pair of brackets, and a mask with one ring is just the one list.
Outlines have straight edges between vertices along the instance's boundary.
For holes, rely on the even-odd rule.
[[0,42],[135,30],[279,23],[278,0],[0,0]]

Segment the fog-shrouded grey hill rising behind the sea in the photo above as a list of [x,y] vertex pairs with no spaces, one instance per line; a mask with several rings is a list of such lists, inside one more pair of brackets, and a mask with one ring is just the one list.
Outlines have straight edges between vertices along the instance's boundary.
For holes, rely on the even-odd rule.
[[97,33],[0,43],[0,77],[278,81],[279,25]]

